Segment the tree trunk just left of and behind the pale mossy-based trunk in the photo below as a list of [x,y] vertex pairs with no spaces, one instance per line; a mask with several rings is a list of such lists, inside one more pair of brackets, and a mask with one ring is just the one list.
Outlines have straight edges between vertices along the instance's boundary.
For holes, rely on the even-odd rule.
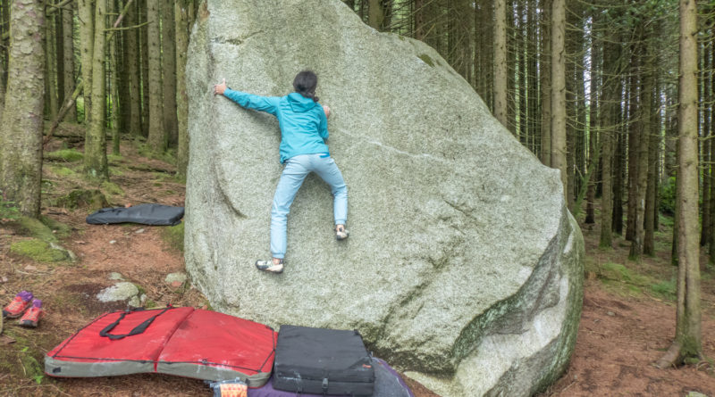
[[80,20],[80,62],[82,64],[82,82],[84,83],[84,123],[89,125],[92,114],[92,54],[94,54],[94,2],[78,0],[77,13]]

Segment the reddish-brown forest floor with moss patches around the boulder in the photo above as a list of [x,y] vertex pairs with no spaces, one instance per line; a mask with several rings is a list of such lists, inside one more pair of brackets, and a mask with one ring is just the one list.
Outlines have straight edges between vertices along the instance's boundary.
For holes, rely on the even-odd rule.
[[[61,149],[52,143],[49,151]],[[122,305],[100,303],[95,295],[114,285],[117,272],[139,285],[147,305],[206,308],[206,298],[190,285],[169,285],[166,275],[184,270],[182,226],[91,226],[87,205],[67,207],[65,196],[78,189],[101,190],[110,205],[138,203],[183,205],[184,184],[170,162],[142,155],[141,145],[122,142],[122,155],[109,156],[111,184],[92,185],[80,178],[76,151],[49,154],[43,169],[42,214],[55,236],[79,261],[30,259],[11,250],[31,241],[18,222],[0,211],[0,302],[21,290],[42,299],[46,317],[38,328],[6,319],[0,335],[0,395],[9,396],[207,396],[202,381],[156,374],[57,379],[43,375],[43,357],[92,318]],[[166,159],[165,159],[166,160]],[[80,200],[81,201],[81,200]],[[87,199],[86,201],[90,201]],[[62,204],[62,205],[61,205]],[[0,208],[2,210],[2,208]],[[4,214],[5,216],[10,216]],[[52,221],[55,222],[52,222]],[[56,223],[56,222],[59,222]],[[715,397],[712,360],[682,368],[657,369],[652,362],[668,348],[675,329],[676,268],[669,264],[672,219],[661,217],[657,255],[640,263],[627,260],[629,244],[618,237],[612,250],[598,249],[599,226],[579,223],[585,237],[585,297],[576,350],[568,372],[542,396]],[[62,225],[66,227],[62,227]],[[31,255],[31,253],[30,253]],[[702,256],[703,348],[715,358],[715,268]],[[431,397],[408,380],[417,397]]]

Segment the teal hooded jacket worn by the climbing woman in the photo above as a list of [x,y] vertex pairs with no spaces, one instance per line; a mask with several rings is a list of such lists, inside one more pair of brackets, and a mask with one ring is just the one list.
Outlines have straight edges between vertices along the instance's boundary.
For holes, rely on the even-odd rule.
[[299,154],[329,153],[323,106],[299,93],[260,96],[227,88],[223,95],[246,109],[271,113],[281,126],[281,163]]

